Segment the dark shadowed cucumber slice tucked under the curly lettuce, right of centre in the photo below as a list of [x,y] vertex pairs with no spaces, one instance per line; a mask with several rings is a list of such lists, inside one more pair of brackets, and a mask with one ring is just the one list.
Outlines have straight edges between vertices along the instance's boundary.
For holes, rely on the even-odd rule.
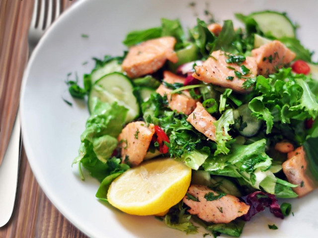
[[251,117],[252,111],[248,108],[248,104],[239,106],[233,110],[235,127],[242,136],[250,137],[255,135],[262,125],[262,120]]

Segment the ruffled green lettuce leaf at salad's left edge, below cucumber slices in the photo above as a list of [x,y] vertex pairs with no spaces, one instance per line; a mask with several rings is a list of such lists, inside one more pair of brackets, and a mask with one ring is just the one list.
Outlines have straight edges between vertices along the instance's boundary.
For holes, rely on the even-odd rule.
[[122,130],[127,111],[116,102],[109,105],[94,99],[91,115],[80,136],[79,156],[74,163],[80,163],[98,180],[104,179],[112,172],[110,163],[113,162],[109,162],[109,158],[117,147],[116,138]]

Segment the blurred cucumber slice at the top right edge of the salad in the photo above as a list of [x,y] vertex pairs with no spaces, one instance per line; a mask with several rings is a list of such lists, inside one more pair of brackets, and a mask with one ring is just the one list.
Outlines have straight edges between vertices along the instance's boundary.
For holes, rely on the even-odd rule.
[[259,11],[249,15],[253,18],[259,29],[267,36],[276,38],[295,38],[295,26],[284,13],[277,11]]

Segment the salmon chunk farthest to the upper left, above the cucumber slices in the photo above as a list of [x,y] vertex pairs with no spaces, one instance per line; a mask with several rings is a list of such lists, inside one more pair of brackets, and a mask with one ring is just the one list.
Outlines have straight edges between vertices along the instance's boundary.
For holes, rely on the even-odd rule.
[[156,72],[166,60],[176,63],[178,58],[173,51],[175,43],[174,37],[165,36],[133,46],[129,49],[122,68],[128,77],[137,78]]

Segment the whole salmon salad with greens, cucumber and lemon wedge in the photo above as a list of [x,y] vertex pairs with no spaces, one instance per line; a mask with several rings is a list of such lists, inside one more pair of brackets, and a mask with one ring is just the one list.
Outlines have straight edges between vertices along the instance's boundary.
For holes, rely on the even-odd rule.
[[[168,227],[239,237],[279,198],[318,181],[318,66],[275,11],[223,25],[179,20],[127,34],[123,56],[95,59],[83,87],[90,117],[73,164],[98,179],[96,197]],[[269,229],[278,229],[268,224]]]

